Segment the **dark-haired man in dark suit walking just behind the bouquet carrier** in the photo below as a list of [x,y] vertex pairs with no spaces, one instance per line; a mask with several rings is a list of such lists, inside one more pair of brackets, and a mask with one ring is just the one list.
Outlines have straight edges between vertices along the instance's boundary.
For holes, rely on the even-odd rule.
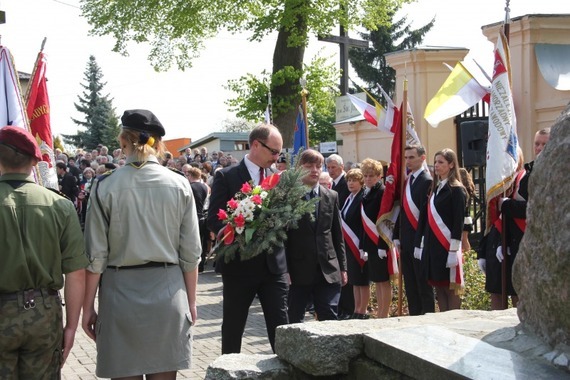
[[307,197],[317,196],[319,202],[314,219],[305,215],[299,228],[287,234],[290,323],[303,321],[311,296],[320,321],[337,319],[340,289],[347,282],[338,194],[319,185],[323,162],[323,156],[312,149],[303,151],[298,159],[298,165],[308,170],[303,177]]

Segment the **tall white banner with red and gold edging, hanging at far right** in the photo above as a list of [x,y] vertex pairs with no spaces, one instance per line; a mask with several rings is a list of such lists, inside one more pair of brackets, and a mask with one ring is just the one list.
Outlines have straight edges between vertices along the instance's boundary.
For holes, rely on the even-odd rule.
[[495,48],[485,188],[487,226],[497,217],[497,197],[515,180],[518,165],[517,119],[512,95],[509,45],[501,31]]

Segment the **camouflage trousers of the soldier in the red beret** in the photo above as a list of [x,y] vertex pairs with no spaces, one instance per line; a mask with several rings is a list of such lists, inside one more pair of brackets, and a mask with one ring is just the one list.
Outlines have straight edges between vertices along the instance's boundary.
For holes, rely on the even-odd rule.
[[60,379],[61,300],[46,292],[32,307],[21,293],[0,299],[0,379]]

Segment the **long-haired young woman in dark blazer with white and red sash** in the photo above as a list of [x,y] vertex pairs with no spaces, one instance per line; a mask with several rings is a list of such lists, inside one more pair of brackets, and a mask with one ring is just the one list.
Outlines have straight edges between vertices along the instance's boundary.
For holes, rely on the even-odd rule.
[[[457,155],[451,149],[435,154],[435,180],[428,207],[420,215],[414,256],[422,261],[424,275],[435,287],[440,311],[459,309],[464,288],[461,234],[465,213],[465,188],[461,184]],[[423,247],[423,249],[421,248]]]

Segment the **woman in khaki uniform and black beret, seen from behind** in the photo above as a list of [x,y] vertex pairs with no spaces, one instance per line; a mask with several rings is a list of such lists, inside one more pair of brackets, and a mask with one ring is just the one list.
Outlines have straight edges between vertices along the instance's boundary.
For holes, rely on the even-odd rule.
[[127,164],[97,179],[88,206],[82,326],[97,343],[98,377],[175,379],[190,367],[197,318],[196,205],[186,178],[159,164],[156,116],[128,110],[121,121]]

